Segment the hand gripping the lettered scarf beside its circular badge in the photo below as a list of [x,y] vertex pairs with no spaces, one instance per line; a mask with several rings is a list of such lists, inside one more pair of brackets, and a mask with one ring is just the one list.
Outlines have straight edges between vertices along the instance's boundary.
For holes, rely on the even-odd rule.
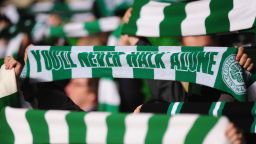
[[246,53],[244,53],[243,47],[238,48],[236,60],[239,61],[239,64],[247,71],[251,71],[253,69],[252,59],[249,58]]

